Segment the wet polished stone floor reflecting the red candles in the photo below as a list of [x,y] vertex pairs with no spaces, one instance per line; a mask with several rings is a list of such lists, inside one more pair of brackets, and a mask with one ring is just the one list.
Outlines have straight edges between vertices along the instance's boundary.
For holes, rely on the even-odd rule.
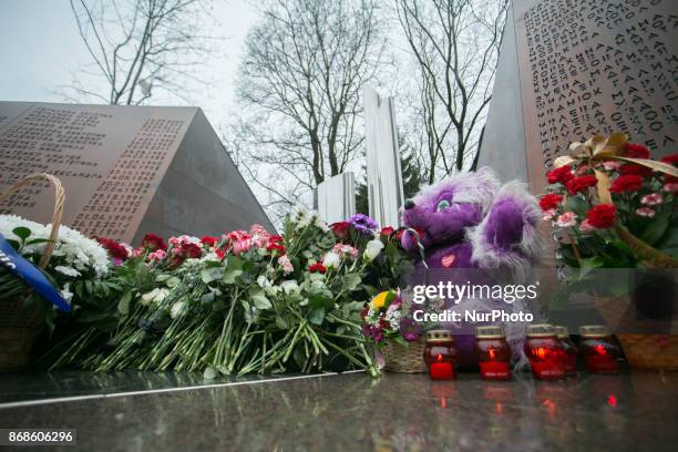
[[65,372],[0,376],[0,428],[78,430],[76,446],[41,450],[672,451],[678,444],[678,372],[583,372],[561,382],[527,374],[434,382],[425,374],[372,380],[362,372],[217,381]]

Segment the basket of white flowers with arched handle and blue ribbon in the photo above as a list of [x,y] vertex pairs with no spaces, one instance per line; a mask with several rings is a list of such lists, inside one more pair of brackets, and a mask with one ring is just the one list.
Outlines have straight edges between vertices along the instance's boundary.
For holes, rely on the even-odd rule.
[[2,370],[25,366],[44,320],[52,326],[52,304],[69,309],[74,286],[81,294],[95,294],[103,287],[97,281],[109,268],[106,251],[96,242],[60,225],[65,192],[56,177],[49,174],[25,177],[0,194],[0,199],[38,179],[47,179],[55,188],[53,224],[45,226],[16,215],[0,215]]

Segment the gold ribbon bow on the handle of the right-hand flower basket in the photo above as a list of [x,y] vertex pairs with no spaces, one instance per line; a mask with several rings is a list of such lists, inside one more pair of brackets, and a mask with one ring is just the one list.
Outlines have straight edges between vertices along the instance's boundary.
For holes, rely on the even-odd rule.
[[[572,143],[568,150],[569,155],[557,157],[554,165],[556,168],[559,168],[561,166],[571,164],[575,164],[575,166],[577,166],[582,163],[590,164],[594,161],[616,160],[647,166],[653,171],[678,177],[678,168],[672,165],[649,158],[631,158],[619,155],[626,148],[628,136],[625,133],[613,133],[609,137],[595,135],[584,143]],[[590,165],[590,167],[596,175],[598,198],[600,199],[600,203],[613,204],[612,195],[609,194],[609,177],[604,172],[596,170],[593,165]]]

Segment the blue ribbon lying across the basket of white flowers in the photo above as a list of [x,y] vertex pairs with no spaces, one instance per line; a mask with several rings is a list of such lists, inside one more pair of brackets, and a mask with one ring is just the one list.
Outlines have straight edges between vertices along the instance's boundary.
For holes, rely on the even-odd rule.
[[54,304],[59,309],[66,312],[71,310],[61,292],[52,286],[42,271],[17,253],[2,234],[0,234],[0,266],[23,279],[38,295]]

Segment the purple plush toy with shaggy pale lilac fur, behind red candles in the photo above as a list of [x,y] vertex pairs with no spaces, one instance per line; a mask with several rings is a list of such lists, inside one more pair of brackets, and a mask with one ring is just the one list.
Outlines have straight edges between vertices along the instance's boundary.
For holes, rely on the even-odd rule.
[[[408,199],[402,210],[404,226],[423,233],[421,244],[430,269],[429,285],[441,281],[455,285],[524,284],[532,261],[541,250],[536,229],[540,218],[536,199],[527,193],[524,184],[514,181],[501,186],[489,168],[458,174],[427,187],[413,199]],[[405,250],[418,250],[414,233],[403,234],[401,244]],[[424,271],[421,258],[417,259],[415,267],[421,276]],[[511,304],[496,298],[464,298],[458,304],[446,301],[446,309],[460,312],[502,310],[511,314],[526,309],[521,300]],[[455,336],[455,346],[462,367],[475,363],[475,325],[465,321],[444,325],[460,332]],[[506,322],[504,330],[514,359],[523,364],[525,325]]]

